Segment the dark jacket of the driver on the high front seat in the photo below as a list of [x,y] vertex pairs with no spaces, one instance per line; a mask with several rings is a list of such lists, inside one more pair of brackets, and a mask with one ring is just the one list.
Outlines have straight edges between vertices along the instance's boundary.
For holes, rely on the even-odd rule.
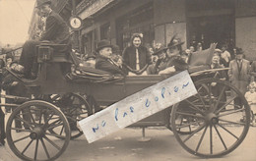
[[68,25],[53,11],[46,18],[45,32],[42,34],[41,40],[48,40],[57,44],[70,43]]

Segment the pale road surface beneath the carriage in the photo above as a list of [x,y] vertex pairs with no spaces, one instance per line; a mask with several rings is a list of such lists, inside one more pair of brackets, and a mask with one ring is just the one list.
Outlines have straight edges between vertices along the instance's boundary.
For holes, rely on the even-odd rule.
[[[150,141],[141,142],[141,129],[124,129],[89,144],[85,136],[70,141],[58,161],[192,161],[199,158],[182,149],[174,135],[165,128],[150,128],[146,135]],[[8,145],[0,147],[0,160],[19,161]],[[208,161],[255,161],[256,127],[251,127],[245,140],[230,154]]]

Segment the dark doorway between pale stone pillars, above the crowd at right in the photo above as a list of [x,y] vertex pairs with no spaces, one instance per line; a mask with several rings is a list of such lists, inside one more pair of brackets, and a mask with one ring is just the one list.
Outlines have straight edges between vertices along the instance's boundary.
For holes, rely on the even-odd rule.
[[195,48],[199,42],[203,49],[209,48],[213,42],[222,45],[234,44],[234,18],[232,16],[195,17],[188,20],[189,43]]

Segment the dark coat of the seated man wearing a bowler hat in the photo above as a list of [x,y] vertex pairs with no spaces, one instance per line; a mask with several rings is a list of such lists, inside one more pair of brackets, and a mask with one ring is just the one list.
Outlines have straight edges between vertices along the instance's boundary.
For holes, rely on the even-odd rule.
[[122,69],[112,63],[107,58],[96,56],[96,69],[109,72],[111,74],[124,75]]

